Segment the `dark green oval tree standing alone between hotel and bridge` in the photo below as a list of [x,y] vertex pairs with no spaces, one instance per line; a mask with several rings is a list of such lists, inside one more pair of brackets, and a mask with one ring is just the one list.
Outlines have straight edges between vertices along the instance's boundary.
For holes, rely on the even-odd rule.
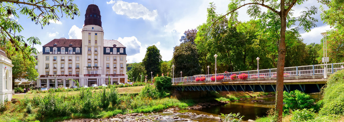
[[[153,77],[157,74],[161,73],[161,55],[160,50],[157,48],[157,46],[152,45],[147,47],[146,55],[144,56],[142,60],[142,64],[144,65],[144,69],[147,71],[147,76],[151,76],[151,72],[153,72]],[[150,78],[150,77],[148,77]]]

